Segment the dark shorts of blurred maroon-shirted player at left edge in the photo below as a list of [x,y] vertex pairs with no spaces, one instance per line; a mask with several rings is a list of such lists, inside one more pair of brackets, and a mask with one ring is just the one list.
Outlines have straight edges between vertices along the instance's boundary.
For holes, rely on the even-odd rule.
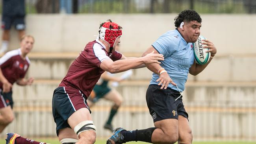
[[11,108],[13,108],[13,92],[2,93],[1,89],[0,91],[0,108],[7,107],[8,105],[11,105]]

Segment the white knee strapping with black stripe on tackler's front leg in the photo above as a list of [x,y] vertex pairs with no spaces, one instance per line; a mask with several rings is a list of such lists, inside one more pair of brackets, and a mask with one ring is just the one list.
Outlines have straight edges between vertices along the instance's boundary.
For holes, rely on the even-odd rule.
[[78,125],[74,127],[74,131],[76,135],[79,135],[83,131],[90,131],[90,130],[96,131],[96,127],[93,125],[92,120],[85,120],[83,122],[80,122]]

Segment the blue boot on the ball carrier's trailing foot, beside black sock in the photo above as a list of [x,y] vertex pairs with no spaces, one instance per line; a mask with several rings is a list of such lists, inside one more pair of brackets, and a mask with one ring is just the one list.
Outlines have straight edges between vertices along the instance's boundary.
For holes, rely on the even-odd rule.
[[126,143],[124,136],[121,134],[121,131],[126,131],[122,127],[114,129],[113,135],[107,140],[107,144],[123,144]]

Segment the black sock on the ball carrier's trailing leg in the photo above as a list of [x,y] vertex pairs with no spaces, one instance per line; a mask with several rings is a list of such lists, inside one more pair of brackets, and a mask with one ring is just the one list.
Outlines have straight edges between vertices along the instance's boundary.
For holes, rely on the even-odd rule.
[[151,141],[151,136],[153,131],[156,129],[156,127],[150,127],[148,129],[140,129],[140,130],[134,130],[134,131],[122,131],[122,135],[124,136],[124,140],[126,142],[130,141],[142,141],[142,142],[149,142]]

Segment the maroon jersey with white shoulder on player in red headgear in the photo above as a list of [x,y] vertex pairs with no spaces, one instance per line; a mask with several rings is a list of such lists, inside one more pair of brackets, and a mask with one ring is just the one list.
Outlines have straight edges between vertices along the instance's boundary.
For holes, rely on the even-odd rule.
[[102,61],[112,59],[113,61],[121,59],[122,54],[113,51],[111,55],[106,51],[106,47],[102,42],[96,40],[89,42],[80,55],[73,61],[67,75],[61,83],[60,87],[75,87],[89,97],[93,87],[104,72],[100,68]]

